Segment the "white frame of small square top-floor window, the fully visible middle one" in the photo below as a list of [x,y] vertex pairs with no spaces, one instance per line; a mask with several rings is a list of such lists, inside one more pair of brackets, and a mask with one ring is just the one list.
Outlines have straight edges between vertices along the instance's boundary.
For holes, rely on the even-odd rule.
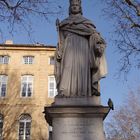
[[[33,55],[25,55],[22,57],[22,60],[23,60],[23,64],[25,65],[32,65],[34,64],[34,56]],[[27,62],[26,62],[26,59],[27,59]],[[31,61],[32,59],[32,61]]]

